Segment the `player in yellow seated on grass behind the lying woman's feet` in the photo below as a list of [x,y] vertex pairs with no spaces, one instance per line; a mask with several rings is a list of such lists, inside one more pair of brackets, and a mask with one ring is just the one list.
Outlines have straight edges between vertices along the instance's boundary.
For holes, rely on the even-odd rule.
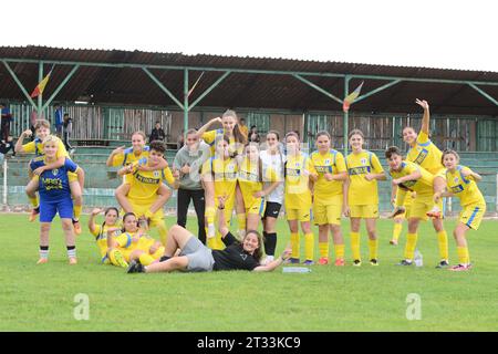
[[133,212],[123,216],[121,235],[114,236],[117,228],[108,228],[107,256],[111,263],[117,267],[128,267],[128,262],[133,260],[145,266],[157,262],[164,253],[164,247],[146,233],[147,229],[147,221],[144,218],[138,220]]

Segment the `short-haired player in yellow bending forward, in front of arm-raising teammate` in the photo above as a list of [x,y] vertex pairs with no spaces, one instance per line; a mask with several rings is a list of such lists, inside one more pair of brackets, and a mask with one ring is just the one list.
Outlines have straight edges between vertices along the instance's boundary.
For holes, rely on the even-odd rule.
[[[391,146],[385,152],[390,165],[390,175],[393,177],[393,188],[397,187],[395,209],[391,217],[403,212],[403,204],[408,190],[416,191],[408,215],[408,233],[406,235],[405,259],[398,266],[412,266],[417,244],[417,230],[421,220],[428,220],[427,211],[434,207],[434,179],[435,176],[419,165],[403,160],[396,146]],[[408,197],[409,198],[409,197]],[[438,242],[440,261],[437,268],[448,266],[445,246]]]

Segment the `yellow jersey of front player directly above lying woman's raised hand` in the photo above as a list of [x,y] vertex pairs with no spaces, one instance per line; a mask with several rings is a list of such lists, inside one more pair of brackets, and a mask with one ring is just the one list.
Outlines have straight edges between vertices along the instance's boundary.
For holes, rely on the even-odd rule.
[[211,174],[215,183],[215,201],[217,197],[227,195],[228,199],[235,198],[238,166],[235,158],[220,159],[211,156],[203,164],[201,174]]

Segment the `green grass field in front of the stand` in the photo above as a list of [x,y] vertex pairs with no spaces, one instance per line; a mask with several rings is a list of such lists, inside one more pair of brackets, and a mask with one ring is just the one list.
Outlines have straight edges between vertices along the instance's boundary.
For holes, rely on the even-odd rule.
[[[0,331],[496,331],[498,329],[498,222],[470,232],[474,269],[436,270],[437,246],[428,223],[419,231],[423,268],[401,268],[403,246],[388,244],[392,222],[380,220],[380,267],[313,266],[311,273],[211,272],[126,274],[98,264],[93,238],[77,239],[70,267],[59,219],[50,262],[38,260],[38,223],[28,215],[0,215]],[[84,225],[87,218],[83,218]],[[174,222],[167,220],[168,225]],[[195,220],[189,227],[195,229]],[[446,221],[452,235],[454,221]],[[289,239],[279,223],[278,250]],[[349,232],[344,222],[343,231]],[[405,230],[404,230],[405,231]],[[317,237],[318,239],[318,237]],[[450,261],[456,247],[450,238]],[[404,244],[404,233],[401,238]],[[331,248],[332,250],[332,248]],[[362,230],[362,254],[367,258]],[[315,250],[318,259],[318,249]],[[77,321],[74,301],[90,299],[90,319]],[[407,295],[421,296],[422,319],[406,317]]]

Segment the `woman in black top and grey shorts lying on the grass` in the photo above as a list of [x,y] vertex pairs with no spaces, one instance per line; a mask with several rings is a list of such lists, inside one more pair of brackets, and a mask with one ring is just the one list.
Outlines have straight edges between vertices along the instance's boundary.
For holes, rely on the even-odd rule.
[[[238,242],[225,223],[225,197],[218,198],[218,229],[226,248],[211,250],[203,244],[190,231],[175,225],[169,229],[168,241],[160,262],[145,267],[142,261],[133,261],[128,273],[157,273],[181,271],[218,271],[218,270],[249,270],[272,271],[288,259],[292,252],[287,248],[282,256],[261,266],[261,236],[258,231],[248,230],[241,242]],[[177,249],[180,250],[174,257]]]

